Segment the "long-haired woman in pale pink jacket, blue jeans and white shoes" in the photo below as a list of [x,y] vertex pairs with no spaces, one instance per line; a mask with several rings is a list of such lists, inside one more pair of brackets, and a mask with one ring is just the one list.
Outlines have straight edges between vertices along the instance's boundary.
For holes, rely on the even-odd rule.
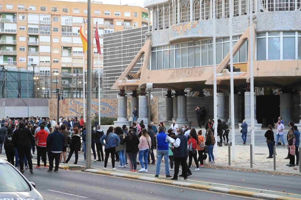
[[[140,143],[138,145],[139,148],[138,157],[139,157],[139,162],[141,164],[141,169],[138,172],[147,172],[147,156],[151,148],[151,137],[147,134],[146,129],[142,129],[141,132],[142,134],[140,137]],[[142,158],[144,158],[145,167],[143,165]]]

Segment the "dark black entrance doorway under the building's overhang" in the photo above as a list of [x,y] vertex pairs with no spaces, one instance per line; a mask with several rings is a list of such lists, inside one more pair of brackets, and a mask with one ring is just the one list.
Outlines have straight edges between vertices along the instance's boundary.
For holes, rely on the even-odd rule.
[[259,124],[268,127],[274,123],[280,116],[280,96],[279,95],[263,95],[256,96],[256,118]]

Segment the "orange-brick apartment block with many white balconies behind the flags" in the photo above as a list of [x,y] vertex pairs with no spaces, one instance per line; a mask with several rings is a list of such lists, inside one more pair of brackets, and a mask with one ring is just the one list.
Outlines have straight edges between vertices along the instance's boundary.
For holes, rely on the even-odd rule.
[[[92,2],[91,14],[94,30],[98,28],[102,52],[104,34],[147,26],[149,19],[147,9],[142,7],[98,2]],[[34,70],[35,82],[42,84],[45,93],[52,94],[50,97],[55,97],[55,88],[61,88],[66,97],[82,96],[83,63],[86,68],[87,55],[83,60],[79,28],[84,22],[87,34],[87,20],[86,2],[2,1],[0,65],[10,69]],[[94,37],[93,47],[92,67],[93,72],[98,73]],[[103,55],[99,64],[102,73]],[[98,77],[96,74],[93,77],[95,83],[92,87],[95,88]]]

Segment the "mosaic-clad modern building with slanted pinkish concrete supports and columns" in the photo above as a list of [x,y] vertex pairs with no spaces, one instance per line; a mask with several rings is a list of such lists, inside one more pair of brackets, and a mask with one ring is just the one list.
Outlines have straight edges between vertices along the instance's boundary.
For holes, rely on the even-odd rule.
[[[166,122],[175,119],[178,124],[190,124],[187,115],[195,118],[194,108],[191,108],[202,106],[206,98],[210,100],[206,101],[206,118],[213,117],[209,115],[213,113],[213,30],[216,30],[218,118],[223,121],[230,118],[228,64],[229,47],[232,45],[235,68],[235,123],[238,124],[243,119],[250,123],[251,120],[251,61],[256,92],[256,128],[274,124],[278,116],[282,117],[284,124],[288,124],[290,120],[299,122],[301,0],[253,0],[253,27],[250,27],[249,20],[250,2],[233,0],[232,7],[229,7],[228,0],[215,2],[216,7],[213,7],[213,1],[210,0],[145,0],[144,7],[153,13],[153,26],[145,33],[144,44],[139,43],[140,46],[143,44],[141,48],[139,47],[140,50],[138,47],[135,49],[137,53],[133,55],[134,59],[126,62],[124,58],[122,59],[124,63],[118,65],[121,67],[116,76],[107,75],[113,73],[109,66],[117,64],[106,58],[107,53],[111,51],[111,46],[106,46],[106,37],[127,36],[127,32],[110,33],[105,36],[104,77],[111,79],[104,80],[104,84],[107,84],[105,87],[115,90],[107,94],[105,89],[105,96],[119,95],[119,106],[123,108],[120,107],[120,116],[117,120],[119,124],[129,123],[124,110],[126,94],[132,93],[131,107],[133,103],[138,107],[139,118],[147,118],[146,88],[150,83],[157,90],[161,89],[161,92],[157,91],[153,93],[154,95],[166,95],[163,117]],[[232,44],[229,41],[229,9],[233,13]],[[215,16],[213,10],[216,11]],[[213,17],[216,18],[216,29],[213,27]],[[253,49],[250,49],[251,32]],[[131,37],[138,35],[142,35],[141,31],[128,35],[123,40],[131,40]],[[130,48],[125,45],[119,46],[119,49]],[[250,57],[251,51],[254,52],[253,57]],[[137,68],[138,65],[141,67]],[[185,90],[189,91],[188,94]],[[208,96],[206,98],[203,97],[205,92]],[[188,106],[191,110],[188,110]]]

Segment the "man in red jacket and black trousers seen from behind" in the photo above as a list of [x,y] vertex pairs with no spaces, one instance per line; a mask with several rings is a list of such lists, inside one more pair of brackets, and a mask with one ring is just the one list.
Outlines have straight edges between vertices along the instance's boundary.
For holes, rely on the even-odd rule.
[[46,139],[48,137],[48,132],[44,129],[45,125],[41,124],[40,126],[40,131],[38,133],[36,133],[36,141],[38,141],[37,143],[37,160],[38,160],[38,164],[35,167],[35,169],[41,169],[40,167],[40,159],[41,156],[43,157],[43,161],[44,161],[44,169],[48,168],[46,165]]

